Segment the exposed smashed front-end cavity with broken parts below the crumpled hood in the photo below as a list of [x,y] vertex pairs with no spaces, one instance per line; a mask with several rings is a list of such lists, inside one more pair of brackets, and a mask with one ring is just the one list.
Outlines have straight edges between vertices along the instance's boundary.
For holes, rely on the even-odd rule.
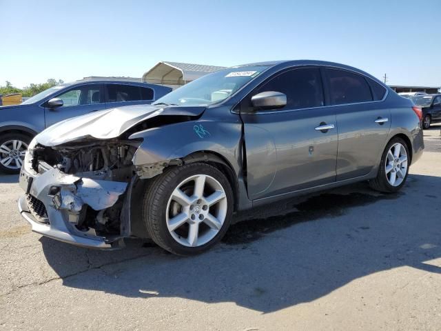
[[[102,237],[118,237],[127,186],[135,174],[132,159],[136,141],[88,141],[60,146],[35,146],[31,168],[39,174],[57,172],[49,195],[55,209],[65,209],[77,230]],[[52,191],[52,192],[51,192]],[[36,216],[36,215],[34,215]]]

